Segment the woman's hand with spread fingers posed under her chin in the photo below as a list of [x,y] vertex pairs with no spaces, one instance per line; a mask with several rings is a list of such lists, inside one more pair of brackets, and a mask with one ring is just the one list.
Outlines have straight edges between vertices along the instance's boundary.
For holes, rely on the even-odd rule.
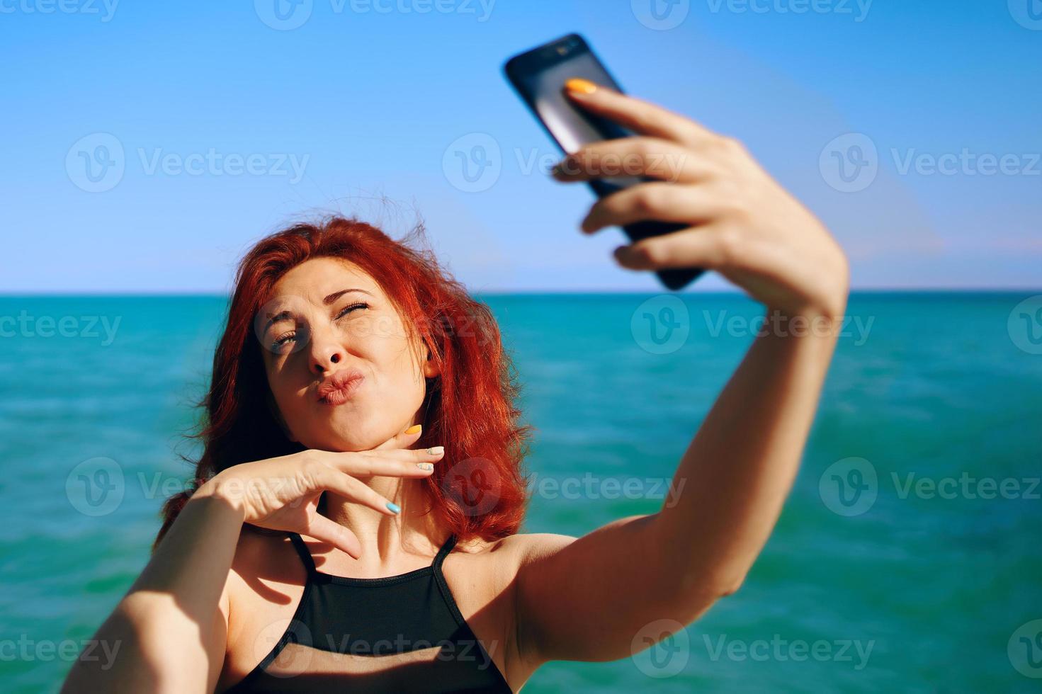
[[[407,429],[406,429],[407,431]],[[397,506],[357,477],[427,477],[444,448],[412,450],[420,431],[402,432],[372,450],[303,450],[235,465],[203,484],[193,498],[218,496],[243,514],[243,520],[273,530],[289,530],[327,542],[358,559],[362,545],[348,528],[317,511],[323,492],[333,492],[393,516]],[[429,452],[435,451],[435,452]]]

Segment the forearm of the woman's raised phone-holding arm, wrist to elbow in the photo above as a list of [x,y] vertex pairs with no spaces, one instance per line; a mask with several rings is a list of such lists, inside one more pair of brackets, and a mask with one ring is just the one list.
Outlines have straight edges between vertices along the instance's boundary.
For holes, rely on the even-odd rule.
[[782,512],[838,333],[834,318],[799,320],[766,323],[676,471],[683,492],[656,523],[681,590],[737,590]]

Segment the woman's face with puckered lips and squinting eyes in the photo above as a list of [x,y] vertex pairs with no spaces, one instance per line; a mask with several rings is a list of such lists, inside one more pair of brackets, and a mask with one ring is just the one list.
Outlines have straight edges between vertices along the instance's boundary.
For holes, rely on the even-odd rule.
[[[316,257],[282,275],[272,296],[254,330],[292,440],[306,448],[367,450],[416,419],[424,378],[438,372],[421,341],[410,343],[401,316],[372,277],[347,261]],[[346,399],[320,399],[324,381],[353,369],[364,378]]]

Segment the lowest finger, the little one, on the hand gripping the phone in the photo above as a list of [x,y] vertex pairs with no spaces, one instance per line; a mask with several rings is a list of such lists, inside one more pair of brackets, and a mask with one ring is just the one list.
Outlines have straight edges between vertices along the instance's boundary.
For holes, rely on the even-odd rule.
[[629,270],[662,268],[705,268],[726,266],[734,242],[717,226],[681,229],[661,237],[642,239],[615,249],[615,259]]

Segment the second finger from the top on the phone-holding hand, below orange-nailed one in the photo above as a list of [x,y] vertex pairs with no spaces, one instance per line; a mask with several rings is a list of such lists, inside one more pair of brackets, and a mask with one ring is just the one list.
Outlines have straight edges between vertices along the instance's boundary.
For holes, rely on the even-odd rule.
[[584,145],[553,167],[563,182],[610,176],[648,176],[672,182],[698,182],[716,170],[711,159],[661,138],[620,138]]

